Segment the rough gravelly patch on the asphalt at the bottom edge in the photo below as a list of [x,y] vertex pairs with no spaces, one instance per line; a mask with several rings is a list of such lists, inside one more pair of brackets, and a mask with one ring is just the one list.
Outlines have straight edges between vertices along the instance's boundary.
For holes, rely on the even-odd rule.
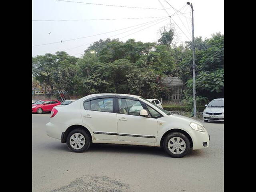
[[83,176],[49,192],[131,192],[129,185],[108,176]]

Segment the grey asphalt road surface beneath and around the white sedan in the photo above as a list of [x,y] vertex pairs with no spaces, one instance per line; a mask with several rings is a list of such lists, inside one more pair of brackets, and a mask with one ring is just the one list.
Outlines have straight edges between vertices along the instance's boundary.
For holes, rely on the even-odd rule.
[[93,144],[70,152],[32,114],[32,192],[222,192],[224,123],[203,123],[210,147],[171,158],[160,148]]

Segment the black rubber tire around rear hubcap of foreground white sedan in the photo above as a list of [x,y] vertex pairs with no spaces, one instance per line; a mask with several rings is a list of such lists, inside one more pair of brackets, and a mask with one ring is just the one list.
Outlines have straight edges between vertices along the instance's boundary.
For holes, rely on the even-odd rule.
[[[83,147],[80,148],[80,149],[75,149],[75,148],[73,148],[73,147],[71,146],[71,144],[70,144],[70,137],[71,137],[73,134],[75,134],[75,133],[81,134],[81,135],[83,135],[84,138],[85,138],[85,144],[84,144]],[[80,137],[81,137],[81,136],[80,136]],[[81,153],[81,152],[84,152],[84,151],[88,150],[88,148],[90,147],[90,145],[91,145],[91,143],[92,143],[89,134],[88,134],[85,130],[79,129],[79,128],[70,131],[70,133],[68,134],[68,137],[67,137],[67,140],[66,140],[66,141],[67,141],[67,145],[68,145],[69,150],[72,151],[72,152],[77,152],[77,153]],[[73,146],[74,146],[74,145],[73,145]]]

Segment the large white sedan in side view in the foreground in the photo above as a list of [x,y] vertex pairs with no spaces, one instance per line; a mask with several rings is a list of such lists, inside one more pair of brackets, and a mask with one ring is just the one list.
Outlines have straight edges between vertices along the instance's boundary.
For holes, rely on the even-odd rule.
[[46,134],[73,152],[86,151],[92,143],[129,144],[163,147],[175,158],[190,148],[208,148],[210,140],[202,123],[127,94],[92,94],[53,108]]

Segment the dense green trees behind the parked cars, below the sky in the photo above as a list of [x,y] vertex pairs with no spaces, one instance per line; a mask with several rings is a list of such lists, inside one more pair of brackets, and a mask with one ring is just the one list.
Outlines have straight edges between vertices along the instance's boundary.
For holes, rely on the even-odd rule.
[[[145,98],[170,94],[160,79],[179,76],[186,82],[186,105],[191,109],[191,42],[175,46],[173,29],[163,28],[160,35],[158,44],[134,39],[126,42],[109,38],[99,40],[84,51],[82,58],[66,52],[32,57],[32,73],[48,92],[60,90],[70,96],[124,93]],[[195,38],[195,43],[196,91],[200,106],[206,100],[200,95],[211,98],[210,93],[221,94],[224,90],[224,35],[217,33],[205,40]]]

